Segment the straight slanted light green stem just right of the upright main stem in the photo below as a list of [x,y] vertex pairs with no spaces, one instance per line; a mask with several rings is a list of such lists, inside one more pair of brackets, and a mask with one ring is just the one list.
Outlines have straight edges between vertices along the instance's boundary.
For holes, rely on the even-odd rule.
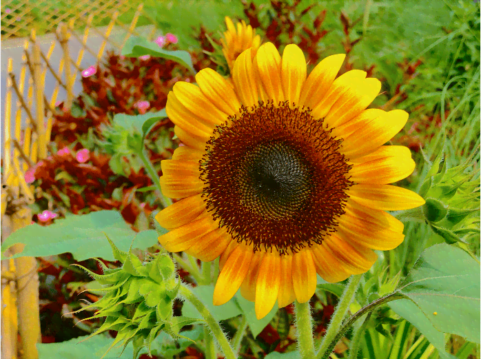
[[[337,338],[338,331],[342,325],[342,320],[344,320],[347,311],[349,310],[349,305],[351,305],[352,300],[354,300],[354,296],[356,296],[356,291],[361,278],[362,274],[356,274],[355,276],[351,276],[351,278],[349,278],[349,283],[347,283],[344,293],[342,293],[342,296],[340,297],[336,311],[334,311],[334,315],[329,323],[329,327],[327,327],[324,339],[320,343],[320,348],[316,358],[322,359],[326,358],[326,356],[329,357],[330,350],[332,350],[332,342]],[[336,343],[334,343],[334,345],[336,345]]]

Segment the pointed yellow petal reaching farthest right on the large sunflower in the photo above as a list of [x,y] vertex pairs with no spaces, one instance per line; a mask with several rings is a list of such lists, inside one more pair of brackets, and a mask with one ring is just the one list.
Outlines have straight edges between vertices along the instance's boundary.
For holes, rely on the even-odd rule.
[[399,211],[424,205],[424,199],[416,192],[392,185],[354,185],[349,188],[349,196],[361,205],[383,211]]

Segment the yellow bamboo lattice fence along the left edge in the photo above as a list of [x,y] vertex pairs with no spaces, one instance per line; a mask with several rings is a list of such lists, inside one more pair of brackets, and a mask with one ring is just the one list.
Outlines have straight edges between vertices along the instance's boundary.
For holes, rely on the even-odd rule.
[[[37,1],[38,3],[39,1]],[[40,1],[39,6],[48,1]],[[25,181],[25,172],[35,163],[46,158],[51,152],[50,131],[52,121],[57,111],[55,103],[59,92],[65,93],[63,110],[68,111],[74,99],[74,83],[81,76],[82,59],[86,53],[93,56],[95,61],[101,61],[105,48],[111,46],[121,49],[132,34],[139,36],[136,24],[143,16],[143,5],[127,11],[132,11],[130,23],[119,21],[121,12],[105,12],[109,22],[103,28],[96,28],[101,19],[103,8],[116,6],[127,1],[76,1],[76,9],[83,9],[85,3],[96,3],[96,11],[90,11],[88,17],[76,14],[67,22],[59,22],[55,31],[54,41],[48,50],[42,50],[37,32],[33,29],[23,40],[22,59],[8,59],[6,94],[3,103],[3,152],[2,152],[2,189],[1,216],[2,238],[14,230],[29,225],[32,214],[28,205],[34,202],[34,187]],[[49,2],[50,3],[50,2]],[[69,1],[73,3],[73,1]],[[132,1],[130,1],[132,3]],[[15,5],[17,4],[17,5]],[[3,21],[6,19],[5,8],[10,6],[12,11],[23,9],[19,1],[2,2],[2,32]],[[84,4],[84,5],[82,5]],[[25,16],[30,10],[21,10]],[[43,10],[42,10],[43,11]],[[106,10],[105,10],[106,11]],[[70,15],[60,19],[68,19]],[[11,23],[8,22],[9,24]],[[79,32],[75,28],[82,28]],[[154,23],[143,37],[152,39],[156,32]],[[116,32],[116,36],[112,33]],[[16,34],[17,32],[11,32]],[[121,35],[119,35],[119,33]],[[2,35],[3,36],[3,35]],[[88,45],[90,37],[101,39],[96,48]],[[71,44],[76,41],[81,48],[76,57],[72,57]],[[45,47],[45,46],[43,46]],[[52,61],[54,51],[61,52],[58,61]],[[14,72],[14,62],[21,62],[21,69]],[[45,78],[54,79],[51,94],[45,92]],[[19,245],[9,249],[10,254],[21,252]],[[38,276],[35,258],[17,258],[4,260],[1,267],[1,355],[3,358],[38,358],[36,343],[40,339]],[[17,340],[20,337],[20,342]]]

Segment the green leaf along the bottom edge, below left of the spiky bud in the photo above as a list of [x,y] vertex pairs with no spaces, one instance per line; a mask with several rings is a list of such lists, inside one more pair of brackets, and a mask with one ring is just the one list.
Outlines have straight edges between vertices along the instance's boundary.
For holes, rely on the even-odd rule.
[[[94,336],[88,340],[87,336],[74,338],[65,342],[51,344],[37,344],[39,359],[85,359],[101,358],[114,340],[108,335]],[[83,341],[85,340],[85,341]],[[125,351],[122,348],[113,348],[104,359],[132,359],[134,349],[132,344],[127,345]]]

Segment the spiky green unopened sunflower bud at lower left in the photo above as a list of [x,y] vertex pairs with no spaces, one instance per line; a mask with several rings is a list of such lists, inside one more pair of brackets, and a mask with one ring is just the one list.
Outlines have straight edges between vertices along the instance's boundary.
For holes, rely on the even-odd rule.
[[150,353],[152,341],[161,331],[178,338],[184,325],[198,322],[198,319],[172,316],[172,300],[181,282],[176,279],[174,263],[167,254],[156,254],[142,263],[132,254],[132,248],[123,252],[110,238],[108,240],[115,259],[123,263],[121,268],[110,269],[99,260],[103,269],[103,274],[99,275],[79,265],[104,285],[98,290],[105,292],[99,301],[81,309],[98,309],[88,319],[105,317],[103,325],[88,338],[103,331],[118,331],[108,350],[120,342],[125,349],[132,341],[136,358],[143,347]]

